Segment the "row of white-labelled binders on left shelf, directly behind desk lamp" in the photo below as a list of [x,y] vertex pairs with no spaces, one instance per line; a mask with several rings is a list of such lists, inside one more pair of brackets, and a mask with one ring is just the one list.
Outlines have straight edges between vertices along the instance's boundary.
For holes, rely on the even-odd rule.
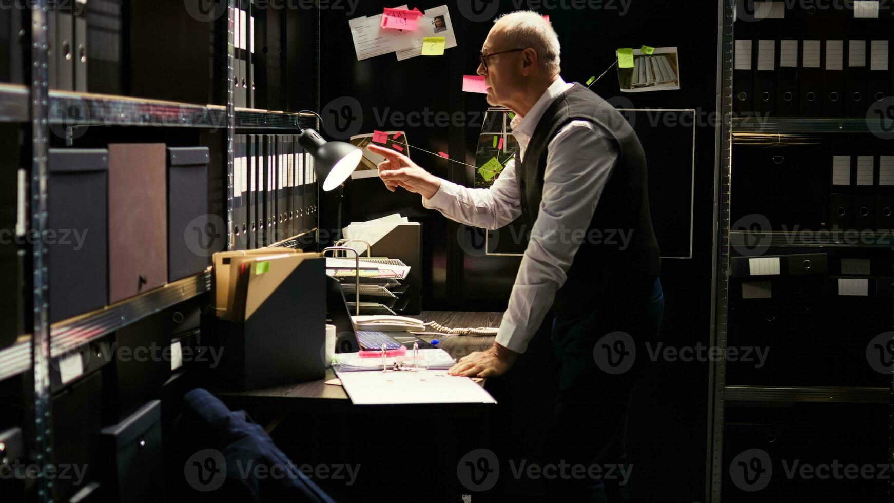
[[316,229],[314,158],[298,135],[236,135],[233,249],[267,247]]

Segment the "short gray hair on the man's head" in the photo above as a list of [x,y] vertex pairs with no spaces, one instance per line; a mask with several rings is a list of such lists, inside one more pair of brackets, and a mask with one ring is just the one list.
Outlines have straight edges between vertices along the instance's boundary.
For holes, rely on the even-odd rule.
[[513,47],[530,47],[537,52],[537,59],[546,71],[561,71],[561,46],[559,36],[550,21],[533,11],[517,11],[503,14],[495,21],[503,30],[506,40]]

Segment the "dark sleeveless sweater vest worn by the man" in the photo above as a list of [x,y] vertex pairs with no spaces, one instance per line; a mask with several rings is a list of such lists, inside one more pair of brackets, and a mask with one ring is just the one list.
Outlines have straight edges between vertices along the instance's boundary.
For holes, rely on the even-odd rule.
[[[525,162],[520,162],[516,155],[516,181],[527,231],[533,228],[540,209],[547,146],[572,121],[594,123],[614,141],[619,155],[571,263],[567,281],[556,292],[553,308],[557,314],[589,311],[604,303],[641,300],[661,272],[658,242],[649,214],[645,154],[637,133],[614,106],[580,84],[546,109],[525,150]],[[572,235],[569,229],[559,239],[571,239]]]

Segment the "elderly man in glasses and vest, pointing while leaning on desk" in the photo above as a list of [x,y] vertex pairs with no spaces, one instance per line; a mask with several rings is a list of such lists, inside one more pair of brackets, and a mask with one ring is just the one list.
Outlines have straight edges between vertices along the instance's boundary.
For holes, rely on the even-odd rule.
[[[490,189],[467,189],[390,149],[370,149],[386,158],[379,175],[388,189],[421,194],[426,208],[457,222],[497,229],[523,217],[530,239],[493,347],[463,357],[450,372],[505,373],[552,308],[560,368],[555,454],[572,465],[602,465],[607,474],[605,465],[626,459],[638,369],[621,360],[654,339],[664,306],[643,148],[614,107],[561,79],[559,38],[537,13],[498,19],[477,73],[487,102],[516,113],[519,150]],[[604,239],[610,233],[628,239]],[[626,477],[604,479],[562,489],[594,501],[628,498]]]

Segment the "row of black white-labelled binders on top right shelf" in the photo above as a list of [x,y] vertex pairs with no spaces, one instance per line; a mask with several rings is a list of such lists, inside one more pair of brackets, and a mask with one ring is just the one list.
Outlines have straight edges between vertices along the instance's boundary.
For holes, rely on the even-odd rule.
[[864,117],[891,96],[890,23],[854,10],[755,4],[772,6],[758,17],[738,7],[734,112]]

